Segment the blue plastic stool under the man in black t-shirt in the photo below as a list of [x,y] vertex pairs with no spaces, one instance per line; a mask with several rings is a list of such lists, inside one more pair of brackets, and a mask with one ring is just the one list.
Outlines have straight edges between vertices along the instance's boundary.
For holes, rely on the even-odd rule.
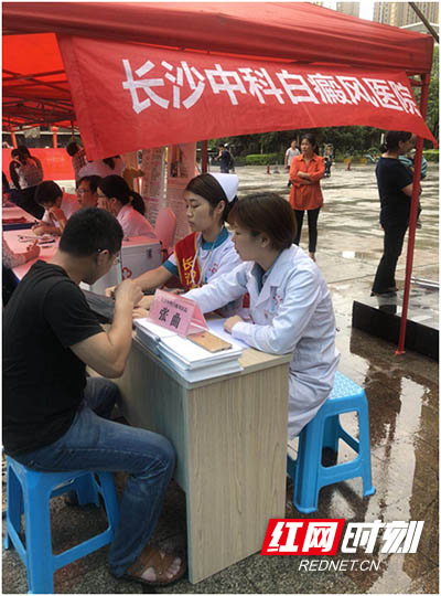
[[[108,544],[118,523],[119,505],[114,475],[92,471],[40,472],[25,468],[8,457],[7,468],[7,532],[4,549],[12,542],[28,573],[29,594],[53,594],[54,572]],[[108,528],[100,534],[64,551],[52,552],[50,500],[65,492],[76,491],[78,504],[99,507],[98,492],[106,507]],[[21,515],[24,513],[25,545],[20,536]]]

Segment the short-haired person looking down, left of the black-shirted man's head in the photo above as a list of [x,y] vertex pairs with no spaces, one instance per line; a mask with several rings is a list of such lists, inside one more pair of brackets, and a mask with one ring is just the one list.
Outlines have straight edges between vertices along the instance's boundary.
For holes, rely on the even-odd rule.
[[67,220],[79,209],[75,194],[63,192],[53,180],[44,180],[36,187],[35,202],[44,209],[41,223],[32,228],[37,236],[61,236]]

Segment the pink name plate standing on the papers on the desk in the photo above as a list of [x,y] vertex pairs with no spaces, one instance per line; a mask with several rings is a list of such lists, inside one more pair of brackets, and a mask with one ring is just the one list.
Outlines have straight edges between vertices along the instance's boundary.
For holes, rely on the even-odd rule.
[[149,319],[180,336],[190,336],[208,329],[200,307],[190,298],[157,290]]

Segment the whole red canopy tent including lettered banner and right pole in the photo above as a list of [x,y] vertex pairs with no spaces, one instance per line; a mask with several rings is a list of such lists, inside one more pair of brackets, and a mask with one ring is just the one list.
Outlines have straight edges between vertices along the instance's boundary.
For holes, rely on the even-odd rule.
[[[423,123],[429,35],[303,2],[4,2],[2,10],[3,126],[77,123],[93,159],[358,124],[418,134],[418,164],[422,137],[433,140]],[[416,76],[420,109],[408,78]]]

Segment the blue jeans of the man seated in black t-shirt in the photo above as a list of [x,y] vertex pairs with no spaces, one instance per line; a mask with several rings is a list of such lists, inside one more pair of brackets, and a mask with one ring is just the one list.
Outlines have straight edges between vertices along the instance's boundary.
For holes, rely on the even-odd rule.
[[41,471],[127,471],[120,518],[109,551],[117,577],[136,561],[157,525],[175,465],[170,441],[155,433],[118,424],[109,416],[119,398],[115,383],[88,379],[84,402],[58,440],[14,459]]

